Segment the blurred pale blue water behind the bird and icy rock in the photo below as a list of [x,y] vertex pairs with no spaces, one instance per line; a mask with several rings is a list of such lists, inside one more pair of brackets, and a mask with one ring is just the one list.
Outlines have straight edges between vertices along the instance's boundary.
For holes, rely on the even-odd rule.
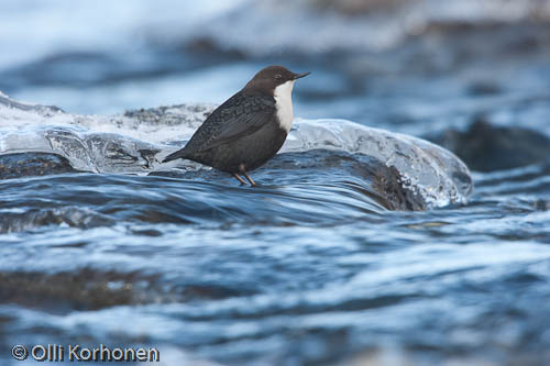
[[21,0],[0,32],[0,90],[75,113],[220,103],[282,64],[314,73],[298,117],[550,132],[547,0]]

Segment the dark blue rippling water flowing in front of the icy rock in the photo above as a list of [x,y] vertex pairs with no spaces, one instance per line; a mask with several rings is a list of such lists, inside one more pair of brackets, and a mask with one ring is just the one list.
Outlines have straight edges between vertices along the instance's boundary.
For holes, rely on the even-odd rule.
[[7,180],[4,344],[144,343],[230,364],[547,359],[549,176],[480,174],[468,207],[427,212],[304,176]]

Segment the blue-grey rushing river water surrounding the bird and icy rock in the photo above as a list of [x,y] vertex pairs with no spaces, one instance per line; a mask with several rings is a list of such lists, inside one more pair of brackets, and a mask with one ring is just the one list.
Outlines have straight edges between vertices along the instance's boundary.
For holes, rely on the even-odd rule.
[[166,365],[550,364],[550,3],[1,3],[0,90],[106,114],[310,70],[297,117],[442,144],[472,170],[468,203],[388,210],[369,157],[326,151],[278,155],[253,189],[6,175],[0,364],[48,343],[158,347]]

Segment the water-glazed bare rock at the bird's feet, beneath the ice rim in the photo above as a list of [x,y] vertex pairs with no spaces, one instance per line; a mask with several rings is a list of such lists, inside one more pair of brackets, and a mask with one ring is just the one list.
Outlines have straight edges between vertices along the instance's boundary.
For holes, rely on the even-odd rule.
[[[233,180],[229,174],[215,169],[154,171],[150,175],[229,184]],[[354,191],[387,210],[422,211],[428,208],[425,198],[407,187],[406,179],[396,167],[388,167],[380,159],[364,154],[327,149],[283,153],[254,170],[252,176],[260,188],[296,184],[345,184],[352,185]]]

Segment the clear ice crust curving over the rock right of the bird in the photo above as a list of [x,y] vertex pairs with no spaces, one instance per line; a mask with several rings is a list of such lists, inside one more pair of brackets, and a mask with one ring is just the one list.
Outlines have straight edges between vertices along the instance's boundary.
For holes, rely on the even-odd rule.
[[345,120],[297,120],[282,152],[343,149],[395,166],[403,184],[433,206],[465,203],[472,192],[470,170],[451,152],[409,135]]

